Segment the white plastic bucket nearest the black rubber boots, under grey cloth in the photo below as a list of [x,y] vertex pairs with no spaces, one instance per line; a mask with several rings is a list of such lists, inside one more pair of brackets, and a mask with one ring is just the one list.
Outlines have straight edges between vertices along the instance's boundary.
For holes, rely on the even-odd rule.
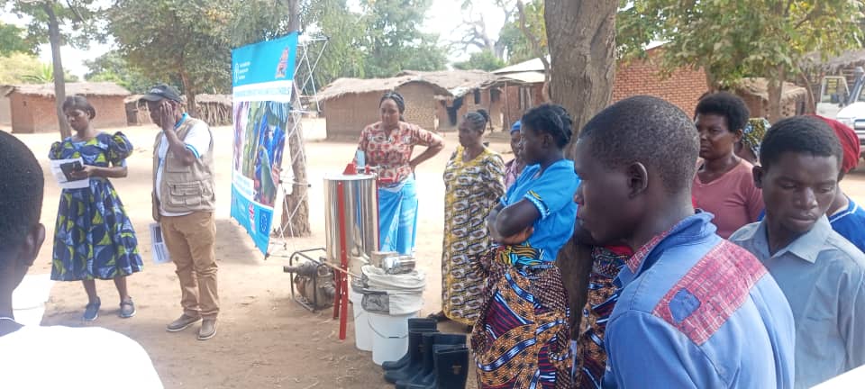
[[395,361],[405,355],[408,351],[408,319],[417,317],[418,312],[405,315],[367,312],[373,338],[372,361],[376,365]]

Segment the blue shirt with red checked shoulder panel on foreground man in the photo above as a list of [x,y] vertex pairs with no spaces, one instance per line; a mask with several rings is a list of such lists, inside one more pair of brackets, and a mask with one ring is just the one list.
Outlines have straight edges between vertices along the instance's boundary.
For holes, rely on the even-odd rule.
[[787,299],[711,221],[688,217],[626,261],[606,327],[604,387],[793,387]]

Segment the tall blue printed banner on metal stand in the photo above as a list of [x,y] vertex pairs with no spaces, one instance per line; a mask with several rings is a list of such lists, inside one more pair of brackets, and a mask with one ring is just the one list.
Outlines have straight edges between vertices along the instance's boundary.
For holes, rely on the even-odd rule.
[[297,33],[232,50],[232,218],[267,253],[286,148]]

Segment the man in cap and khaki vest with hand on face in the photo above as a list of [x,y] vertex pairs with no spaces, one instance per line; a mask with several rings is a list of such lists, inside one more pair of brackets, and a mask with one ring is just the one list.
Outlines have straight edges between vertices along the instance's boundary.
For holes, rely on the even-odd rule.
[[198,321],[198,339],[216,335],[214,138],[207,123],[183,111],[180,94],[165,84],[141,97],[162,131],[153,146],[153,219],[177,265],[183,315],[168,332]]

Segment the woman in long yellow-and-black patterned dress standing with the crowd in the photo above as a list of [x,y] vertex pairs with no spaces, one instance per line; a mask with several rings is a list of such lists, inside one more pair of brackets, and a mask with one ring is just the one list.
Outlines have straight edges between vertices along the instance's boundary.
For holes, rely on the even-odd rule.
[[487,215],[505,195],[505,164],[484,147],[487,111],[467,113],[460,123],[460,147],[444,168],[444,241],[442,243],[442,312],[472,325],[483,303],[483,276],[475,265],[489,249]]

